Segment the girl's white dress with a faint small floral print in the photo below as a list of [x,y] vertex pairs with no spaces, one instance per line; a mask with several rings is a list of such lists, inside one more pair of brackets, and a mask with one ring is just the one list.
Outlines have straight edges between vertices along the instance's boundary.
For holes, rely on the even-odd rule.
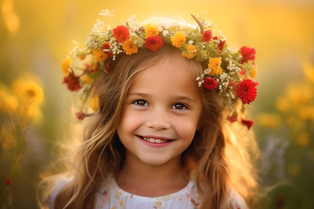
[[[66,184],[66,180],[56,184],[51,194],[49,208],[54,209],[57,194]],[[247,209],[242,196],[235,190],[230,191],[229,207],[233,209]],[[121,189],[113,177],[108,177],[96,193],[94,209],[198,209],[200,196],[196,182],[191,180],[183,189],[158,197],[147,197],[131,194]]]

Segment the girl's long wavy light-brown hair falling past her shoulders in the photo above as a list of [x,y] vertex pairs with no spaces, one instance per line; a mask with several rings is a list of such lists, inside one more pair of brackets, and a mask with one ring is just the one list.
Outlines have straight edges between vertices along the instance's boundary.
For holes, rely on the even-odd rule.
[[[94,207],[100,182],[108,175],[117,175],[123,167],[125,147],[116,130],[129,88],[145,69],[162,59],[171,59],[175,54],[180,55],[180,52],[167,44],[158,52],[143,49],[131,56],[119,54],[110,64],[111,73],[104,74],[94,83],[93,93],[99,96],[99,112],[86,126],[84,139],[74,150],[75,160],[67,162],[69,172],[63,177],[71,176],[71,180],[58,193],[56,209]],[[206,67],[194,59],[177,57],[189,65],[194,78]],[[182,162],[187,173],[197,181],[201,209],[229,208],[230,188],[235,188],[250,204],[257,186],[251,161],[252,153],[258,153],[254,136],[244,126],[226,120],[230,106],[226,107],[224,99],[215,90],[201,87],[200,91],[203,96],[201,127],[182,153]],[[236,108],[237,104],[233,104],[233,109]],[[50,181],[54,185],[59,178],[60,175],[50,177],[44,182]],[[53,186],[46,189],[44,197],[54,189]]]

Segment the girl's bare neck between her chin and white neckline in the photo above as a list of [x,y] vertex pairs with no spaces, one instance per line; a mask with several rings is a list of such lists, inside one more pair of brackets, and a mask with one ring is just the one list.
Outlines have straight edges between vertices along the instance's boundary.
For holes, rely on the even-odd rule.
[[123,171],[116,176],[118,185],[125,191],[142,196],[163,196],[184,188],[181,156],[162,165],[148,165],[126,154]]

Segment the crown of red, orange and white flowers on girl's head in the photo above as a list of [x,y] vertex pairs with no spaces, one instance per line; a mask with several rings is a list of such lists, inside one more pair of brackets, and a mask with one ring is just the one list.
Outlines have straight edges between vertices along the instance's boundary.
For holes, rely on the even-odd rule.
[[[99,15],[116,22],[113,19],[114,11],[103,10]],[[192,15],[192,18],[197,23],[194,29],[184,27],[179,21],[164,22],[161,26],[139,26],[135,16],[132,16],[125,24],[119,23],[114,29],[103,30],[104,22],[97,20],[87,37],[86,48],[79,49],[76,43],[61,66],[66,74],[63,83],[70,91],[78,91],[80,95],[82,104],[76,113],[78,119],[92,114],[90,109],[98,110],[98,98],[90,98],[91,86],[102,73],[110,73],[109,63],[115,61],[116,55],[132,55],[143,48],[156,52],[165,43],[179,49],[187,59],[196,59],[208,66],[197,77],[199,87],[217,90],[231,105],[240,99],[243,109],[245,104],[254,101],[257,83],[251,79],[257,72],[255,50],[242,47],[233,51],[228,48],[225,37],[205,18],[205,12]],[[79,63],[81,67],[72,62],[75,58],[83,62]],[[80,73],[74,70],[80,70]],[[238,120],[236,111],[228,120]],[[241,119],[241,122],[248,128],[253,124],[253,121],[246,119]]]

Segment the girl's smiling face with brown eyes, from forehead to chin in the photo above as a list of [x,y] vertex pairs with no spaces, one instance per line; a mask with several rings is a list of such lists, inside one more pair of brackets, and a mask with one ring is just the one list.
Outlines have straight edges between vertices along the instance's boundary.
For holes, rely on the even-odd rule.
[[124,101],[118,136],[125,160],[162,165],[178,160],[191,144],[201,111],[201,92],[180,54],[144,70]]

